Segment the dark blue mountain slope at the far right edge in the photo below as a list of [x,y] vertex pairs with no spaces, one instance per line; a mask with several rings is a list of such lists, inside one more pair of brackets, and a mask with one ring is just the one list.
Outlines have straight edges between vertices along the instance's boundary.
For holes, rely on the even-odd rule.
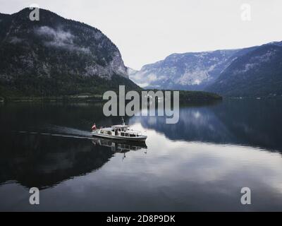
[[224,96],[282,95],[282,42],[271,42],[235,59],[206,88]]

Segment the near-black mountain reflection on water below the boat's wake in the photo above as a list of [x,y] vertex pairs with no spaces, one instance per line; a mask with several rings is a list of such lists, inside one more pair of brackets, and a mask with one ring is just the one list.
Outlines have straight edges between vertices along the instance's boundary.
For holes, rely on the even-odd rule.
[[2,137],[1,147],[0,185],[16,181],[39,189],[94,172],[115,153],[125,157],[130,150],[147,149],[145,143],[35,132],[11,133]]

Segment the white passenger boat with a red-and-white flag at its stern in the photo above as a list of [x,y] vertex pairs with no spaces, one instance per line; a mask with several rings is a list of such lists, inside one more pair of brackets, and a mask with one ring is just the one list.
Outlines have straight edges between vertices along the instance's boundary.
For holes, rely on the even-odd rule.
[[[122,119],[123,120],[123,119]],[[123,124],[114,125],[111,127],[105,127],[97,129],[96,125],[92,126],[92,136],[99,136],[102,138],[110,138],[123,141],[145,141],[147,136],[142,134],[140,131],[130,129],[130,126]]]

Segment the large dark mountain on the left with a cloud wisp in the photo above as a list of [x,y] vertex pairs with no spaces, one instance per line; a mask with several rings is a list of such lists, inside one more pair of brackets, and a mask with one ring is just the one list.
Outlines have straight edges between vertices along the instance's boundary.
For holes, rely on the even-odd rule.
[[0,13],[0,96],[102,93],[126,85],[127,68],[116,45],[97,28],[44,9],[39,20],[24,8]]

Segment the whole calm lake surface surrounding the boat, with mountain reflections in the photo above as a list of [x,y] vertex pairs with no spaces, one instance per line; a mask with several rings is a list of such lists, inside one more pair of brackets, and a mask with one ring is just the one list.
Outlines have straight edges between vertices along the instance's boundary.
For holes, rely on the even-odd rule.
[[281,211],[281,104],[183,106],[178,124],[125,117],[147,133],[145,145],[91,138],[94,122],[121,124],[101,103],[2,104],[0,211]]

